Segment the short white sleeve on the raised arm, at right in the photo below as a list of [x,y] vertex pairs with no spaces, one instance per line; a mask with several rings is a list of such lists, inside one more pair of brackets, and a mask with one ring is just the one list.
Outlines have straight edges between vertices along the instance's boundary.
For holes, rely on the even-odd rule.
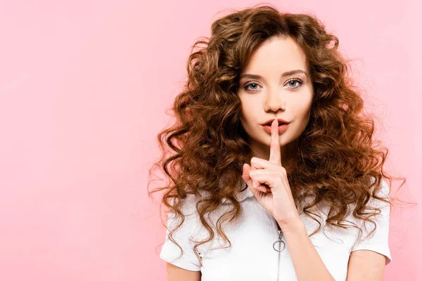
[[[381,183],[381,196],[389,198],[390,187],[385,181]],[[371,230],[373,230],[373,224],[367,223],[366,228],[362,227],[362,238],[357,244],[352,247],[352,251],[357,250],[371,250],[376,251],[378,254],[385,256],[385,266],[392,261],[390,254],[390,247],[388,246],[388,231],[390,228],[390,204],[382,202],[380,200],[369,201],[371,207],[376,206],[381,209],[381,214],[377,215],[376,218],[371,218],[376,223],[376,230],[373,231],[371,236],[366,237]],[[369,229],[368,229],[369,228]]]

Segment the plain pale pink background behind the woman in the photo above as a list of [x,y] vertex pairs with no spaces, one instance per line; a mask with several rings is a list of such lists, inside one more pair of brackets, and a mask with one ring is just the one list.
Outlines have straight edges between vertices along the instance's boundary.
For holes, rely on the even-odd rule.
[[[400,195],[421,202],[420,4],[271,3],[337,34],[383,122],[389,171],[408,179]],[[1,1],[0,280],[165,280],[146,190],[155,137],[191,44],[229,13],[217,12],[253,4]],[[385,280],[418,280],[419,210],[392,214]]]

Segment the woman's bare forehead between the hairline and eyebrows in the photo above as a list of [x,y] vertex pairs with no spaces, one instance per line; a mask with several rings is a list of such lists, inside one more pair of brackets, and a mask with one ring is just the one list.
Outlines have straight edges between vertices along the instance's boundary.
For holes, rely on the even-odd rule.
[[307,71],[306,55],[291,37],[273,37],[250,55],[243,73],[277,74],[288,70]]

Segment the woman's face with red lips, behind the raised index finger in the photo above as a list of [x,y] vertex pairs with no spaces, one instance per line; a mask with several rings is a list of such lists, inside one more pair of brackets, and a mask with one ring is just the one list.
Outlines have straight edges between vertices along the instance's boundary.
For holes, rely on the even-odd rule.
[[[302,72],[285,73],[295,70]],[[269,159],[271,133],[262,123],[275,118],[290,122],[279,139],[282,163],[283,157],[291,157],[309,121],[313,92],[305,53],[290,37],[273,37],[252,53],[241,73],[238,96],[241,124],[255,157]]]

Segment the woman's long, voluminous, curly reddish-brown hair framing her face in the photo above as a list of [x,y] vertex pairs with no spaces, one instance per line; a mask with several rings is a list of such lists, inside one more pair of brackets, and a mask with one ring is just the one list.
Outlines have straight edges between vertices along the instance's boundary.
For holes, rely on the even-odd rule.
[[[252,150],[240,122],[238,80],[250,55],[271,37],[295,39],[306,54],[314,87],[309,123],[298,138],[288,170],[297,206],[302,206],[308,195],[314,198],[300,207],[319,223],[311,236],[321,229],[314,217],[319,215],[313,211],[319,204],[330,208],[326,226],[340,228],[349,227],[342,221],[350,206],[354,218],[376,226],[371,217],[381,211],[367,206],[369,200],[392,204],[392,197],[378,196],[383,178],[392,185],[392,176],[383,170],[388,149],[373,140],[373,117],[364,112],[362,94],[348,75],[348,60],[338,51],[338,37],[328,33],[312,14],[281,13],[271,5],[234,11],[212,23],[210,38],[202,37],[193,44],[188,79],[172,108],[176,123],[158,134],[162,158],[152,168],[159,167],[170,178],[168,185],[153,192],[165,190],[162,205],[181,217],[169,235],[180,249],[172,233],[184,222],[181,206],[187,195],[198,197],[196,211],[209,234],[193,248],[198,260],[196,248],[215,236],[205,214],[217,209],[223,198],[231,203],[232,209],[216,226],[229,246],[222,223],[235,222],[241,216],[236,195],[242,192],[238,188],[243,181],[242,165],[250,162]],[[406,178],[402,179],[403,185]],[[209,196],[200,196],[204,194],[201,190]],[[362,235],[362,230],[359,233]]]

